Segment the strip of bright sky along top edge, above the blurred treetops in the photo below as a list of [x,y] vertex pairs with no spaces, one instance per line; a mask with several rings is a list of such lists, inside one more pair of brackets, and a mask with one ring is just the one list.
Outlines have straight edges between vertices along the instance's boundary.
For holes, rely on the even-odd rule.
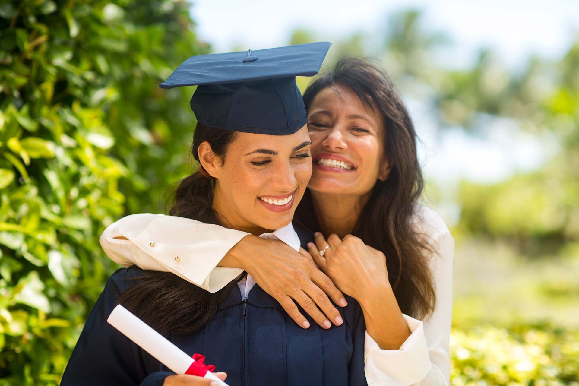
[[446,63],[454,66],[472,63],[481,46],[495,47],[511,65],[531,53],[556,58],[579,34],[577,0],[196,0],[191,13],[199,37],[224,52],[287,45],[298,27],[329,41],[378,34],[390,14],[409,8],[423,10],[428,30],[452,39]]

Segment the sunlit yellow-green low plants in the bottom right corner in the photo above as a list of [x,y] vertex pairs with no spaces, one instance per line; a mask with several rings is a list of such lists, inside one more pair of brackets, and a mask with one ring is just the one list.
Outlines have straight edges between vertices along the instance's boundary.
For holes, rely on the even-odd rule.
[[579,384],[579,330],[549,323],[453,329],[452,386]]

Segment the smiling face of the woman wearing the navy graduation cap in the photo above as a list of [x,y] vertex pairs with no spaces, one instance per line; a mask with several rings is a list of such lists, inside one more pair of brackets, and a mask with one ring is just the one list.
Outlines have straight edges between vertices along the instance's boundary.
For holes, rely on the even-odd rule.
[[214,208],[229,226],[254,234],[291,222],[312,175],[304,126],[292,135],[237,133],[212,170]]

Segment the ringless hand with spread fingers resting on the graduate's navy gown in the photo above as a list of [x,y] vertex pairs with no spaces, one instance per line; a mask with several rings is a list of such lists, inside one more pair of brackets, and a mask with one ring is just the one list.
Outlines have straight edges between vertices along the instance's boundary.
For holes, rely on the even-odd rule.
[[219,265],[247,271],[303,328],[309,328],[310,323],[294,301],[323,328],[343,322],[329,299],[340,306],[347,305],[346,299],[305,249],[296,252],[280,240],[246,236],[229,250]]

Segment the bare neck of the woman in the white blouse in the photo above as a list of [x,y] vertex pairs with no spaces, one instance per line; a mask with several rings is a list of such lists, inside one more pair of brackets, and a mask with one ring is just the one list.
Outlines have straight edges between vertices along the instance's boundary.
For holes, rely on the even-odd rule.
[[368,192],[363,196],[355,196],[310,191],[320,231],[326,238],[332,233],[340,238],[350,234],[372,194]]

